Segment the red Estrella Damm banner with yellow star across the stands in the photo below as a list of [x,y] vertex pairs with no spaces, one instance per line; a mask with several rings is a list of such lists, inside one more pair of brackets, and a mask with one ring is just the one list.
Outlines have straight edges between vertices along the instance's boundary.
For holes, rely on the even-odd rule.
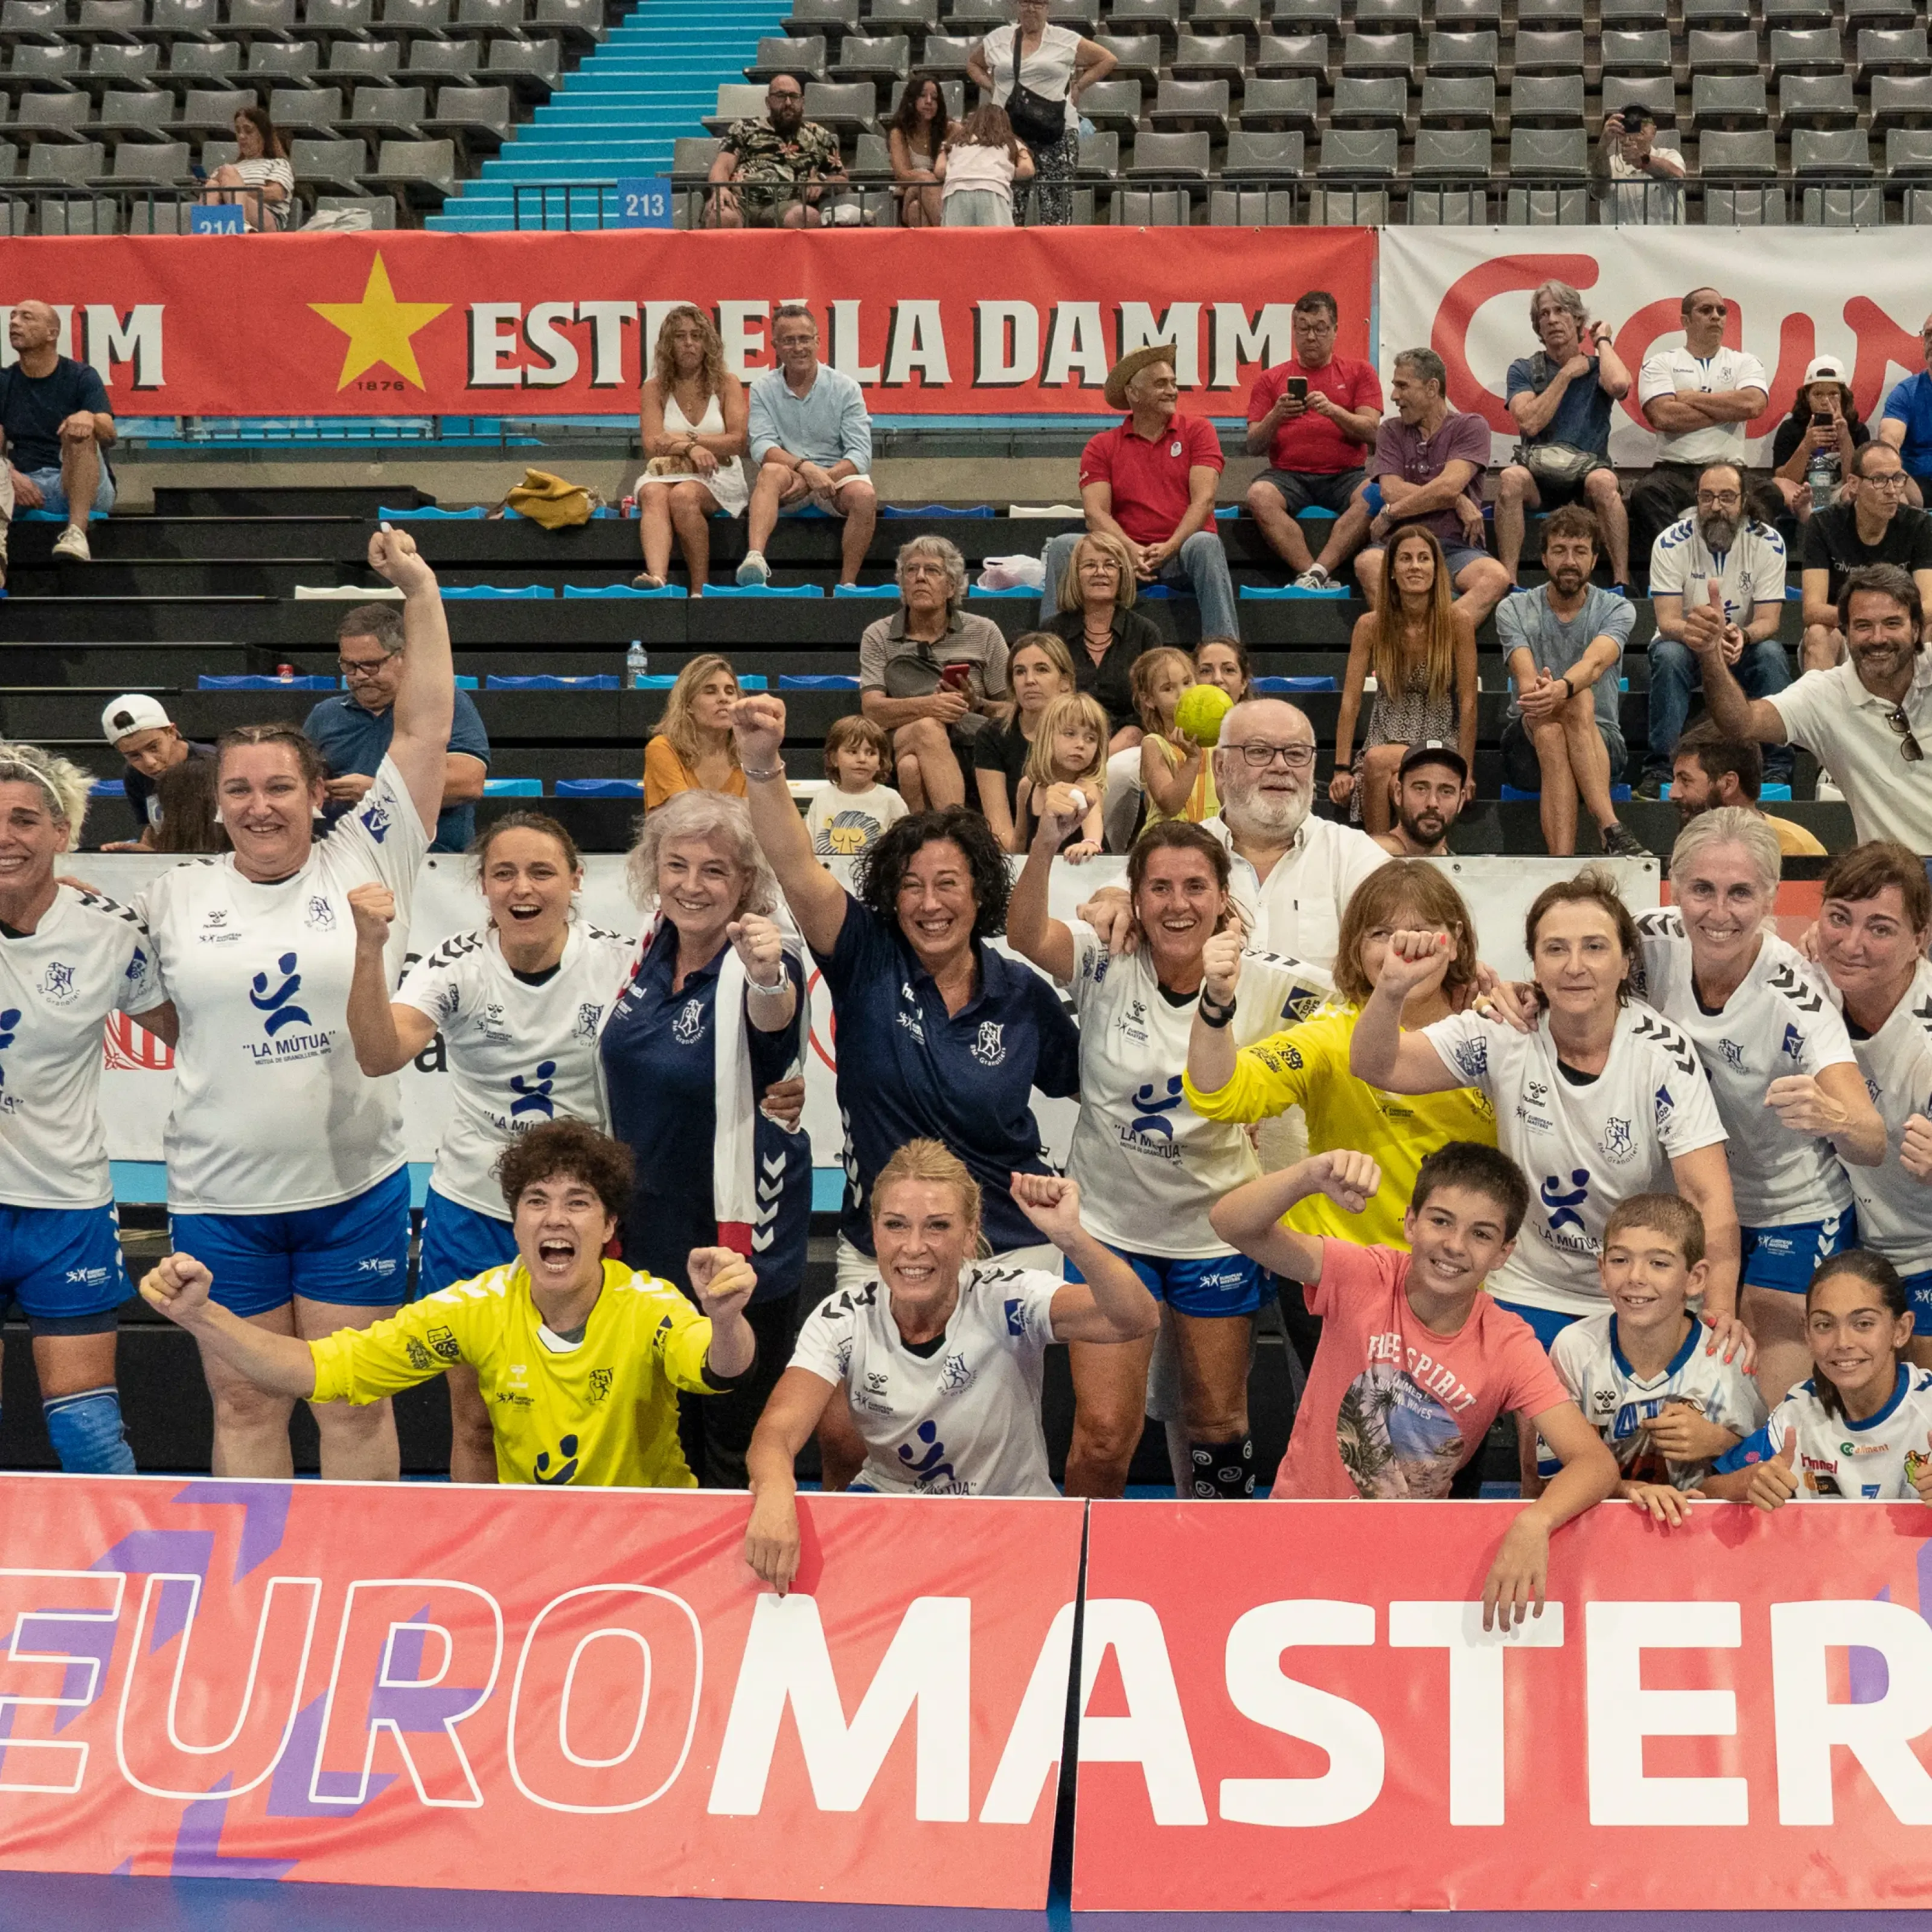
[[[1105,413],[1128,350],[1171,342],[1182,390],[1246,410],[1310,288],[1370,355],[1366,228],[817,234],[429,232],[100,236],[8,251],[0,301],[52,301],[62,352],[124,415],[614,415],[665,315],[707,309],[726,361],[771,365],[808,301],[829,363],[881,415]],[[0,365],[10,361],[0,350]]]

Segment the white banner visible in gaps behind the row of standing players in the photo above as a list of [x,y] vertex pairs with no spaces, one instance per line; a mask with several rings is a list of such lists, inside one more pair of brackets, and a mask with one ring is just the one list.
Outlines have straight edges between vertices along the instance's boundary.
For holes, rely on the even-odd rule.
[[[77,869],[89,885],[110,898],[131,904],[156,871],[178,864],[133,852],[87,852]],[[1014,867],[1018,867],[1014,860]],[[1577,869],[1577,860],[1536,858],[1453,858],[1439,862],[1455,879],[1476,922],[1482,956],[1497,972],[1519,976],[1528,970],[1522,949],[1522,916],[1530,900],[1551,881]],[[1600,862],[1602,864],[1602,862]],[[850,873],[846,860],[833,860],[838,875]],[[1609,867],[1633,912],[1658,904],[1658,866],[1654,860],[1625,860]],[[1072,918],[1074,908],[1101,885],[1119,885],[1126,862],[1097,858],[1086,866],[1055,866],[1053,912]],[[583,860],[582,910],[587,920],[618,933],[641,927],[638,908],[624,893],[624,860],[616,852],[593,852]],[[481,895],[462,858],[431,858],[415,887],[410,925],[412,958],[440,945],[452,933],[485,923]],[[817,1167],[837,1167],[844,1134],[833,1088],[837,1045],[833,1003],[823,981],[811,974],[811,1036],[806,1045],[806,1132]],[[448,1119],[450,1097],[442,1061],[442,1041],[429,1047],[402,1070],[404,1130],[412,1161],[433,1161],[437,1140]],[[100,1082],[100,1109],[106,1117],[108,1153],[116,1161],[158,1161],[160,1130],[174,1103],[174,1055],[124,1014],[116,1014],[106,1039],[106,1072]],[[1074,1126],[1074,1103],[1034,1095],[1047,1150],[1065,1159]]]

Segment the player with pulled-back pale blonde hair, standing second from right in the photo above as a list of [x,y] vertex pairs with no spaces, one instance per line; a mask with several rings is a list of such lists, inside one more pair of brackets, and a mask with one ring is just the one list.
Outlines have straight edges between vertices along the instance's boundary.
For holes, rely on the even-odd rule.
[[1638,991],[1696,1047],[1731,1144],[1739,1314],[1772,1403],[1810,1372],[1804,1283],[1859,1244],[1845,1169],[1886,1157],[1824,976],[1772,927],[1779,869],[1756,811],[1700,811],[1671,850],[1675,904],[1636,918]]

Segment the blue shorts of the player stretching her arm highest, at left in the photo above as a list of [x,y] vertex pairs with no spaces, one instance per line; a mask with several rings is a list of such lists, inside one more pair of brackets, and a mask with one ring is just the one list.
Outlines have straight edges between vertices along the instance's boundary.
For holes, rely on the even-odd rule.
[[410,1169],[361,1194],[292,1213],[174,1213],[174,1246],[205,1262],[230,1314],[265,1316],[298,1294],[394,1308],[410,1281]]

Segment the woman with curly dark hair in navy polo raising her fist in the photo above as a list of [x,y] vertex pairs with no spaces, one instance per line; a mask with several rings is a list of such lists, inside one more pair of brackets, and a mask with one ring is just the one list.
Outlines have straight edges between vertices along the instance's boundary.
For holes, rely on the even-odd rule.
[[1080,1036],[1032,968],[995,952],[1012,891],[978,811],[916,811],[854,866],[848,893],[811,854],[784,786],[784,705],[732,713],[752,829],[833,995],[846,1192],[838,1287],[875,1279],[871,1184],[908,1140],[945,1142],[985,1192],[999,1258],[1055,1267],[1012,1198],[1014,1173],[1051,1173],[1032,1090],[1080,1090]]

